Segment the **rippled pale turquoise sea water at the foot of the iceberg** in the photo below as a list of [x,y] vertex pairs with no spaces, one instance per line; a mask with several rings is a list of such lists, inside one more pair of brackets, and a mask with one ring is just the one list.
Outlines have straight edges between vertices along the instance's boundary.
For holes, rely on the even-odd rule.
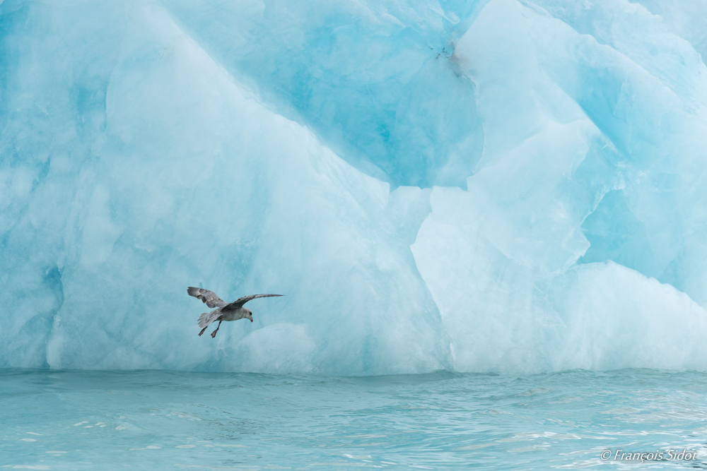
[[[663,460],[614,460],[617,449],[619,458]],[[696,459],[668,459],[683,449]],[[706,461],[707,374],[694,372],[0,371],[8,468],[638,470]]]

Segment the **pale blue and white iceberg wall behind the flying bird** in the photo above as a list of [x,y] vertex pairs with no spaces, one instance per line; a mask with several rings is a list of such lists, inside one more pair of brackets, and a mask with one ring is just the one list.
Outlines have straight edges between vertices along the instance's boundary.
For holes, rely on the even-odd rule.
[[706,12],[0,1],[0,367],[707,370]]

